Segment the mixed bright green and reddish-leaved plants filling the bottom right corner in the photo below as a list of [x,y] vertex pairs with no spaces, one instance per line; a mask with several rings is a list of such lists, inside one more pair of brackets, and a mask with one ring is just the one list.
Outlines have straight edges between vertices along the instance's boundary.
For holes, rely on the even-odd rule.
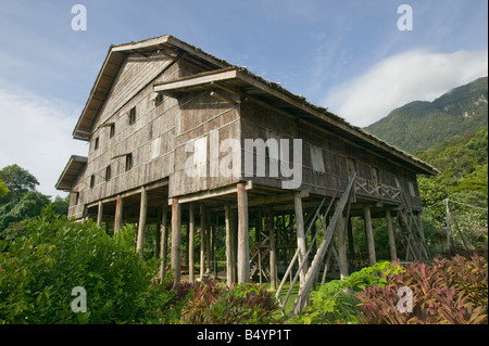
[[312,302],[300,317],[304,323],[487,323],[487,258],[473,254],[430,265],[380,262],[323,285]]

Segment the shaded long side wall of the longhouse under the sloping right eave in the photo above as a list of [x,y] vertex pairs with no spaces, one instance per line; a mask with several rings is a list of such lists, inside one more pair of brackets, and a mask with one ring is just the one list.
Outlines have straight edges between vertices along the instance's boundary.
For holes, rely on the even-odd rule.
[[[397,177],[413,209],[421,210],[416,176],[409,172],[404,167],[376,156],[361,146],[352,145],[335,133],[326,134],[302,121],[298,123],[291,117],[289,118],[253,102],[241,104],[241,124],[243,151],[246,138],[266,139],[272,133],[276,138],[302,139],[301,190],[331,196],[335,189],[341,191],[346,189],[349,176],[353,170],[356,170],[360,178],[390,187],[396,187]],[[291,152],[289,157],[292,157]],[[268,164],[266,172],[268,172]],[[283,179],[284,177],[279,176],[278,178],[254,177],[252,180],[256,183],[279,188]],[[410,194],[410,183],[414,190],[414,195]]]

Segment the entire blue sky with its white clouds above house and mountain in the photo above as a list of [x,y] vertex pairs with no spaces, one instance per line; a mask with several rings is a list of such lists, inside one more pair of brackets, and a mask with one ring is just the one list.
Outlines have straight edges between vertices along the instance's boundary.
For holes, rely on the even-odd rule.
[[[74,4],[87,30],[74,31]],[[398,29],[401,4],[413,30]],[[0,167],[54,191],[111,43],[171,34],[358,126],[488,74],[487,0],[0,1]]]

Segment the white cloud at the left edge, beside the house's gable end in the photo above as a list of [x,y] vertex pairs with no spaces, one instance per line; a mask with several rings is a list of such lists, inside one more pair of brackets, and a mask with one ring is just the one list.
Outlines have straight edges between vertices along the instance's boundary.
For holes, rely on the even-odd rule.
[[87,155],[85,142],[72,138],[79,110],[62,100],[0,87],[0,168],[17,164],[51,196],[65,193],[54,184],[72,154]]

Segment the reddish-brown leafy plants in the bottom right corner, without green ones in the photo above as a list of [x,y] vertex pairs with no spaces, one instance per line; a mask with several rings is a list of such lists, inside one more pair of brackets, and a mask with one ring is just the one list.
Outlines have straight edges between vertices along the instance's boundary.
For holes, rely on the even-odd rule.
[[[431,265],[409,264],[388,284],[365,287],[359,322],[367,324],[480,324],[487,323],[488,265],[484,257],[454,256]],[[413,294],[411,311],[398,308],[399,290]]]

